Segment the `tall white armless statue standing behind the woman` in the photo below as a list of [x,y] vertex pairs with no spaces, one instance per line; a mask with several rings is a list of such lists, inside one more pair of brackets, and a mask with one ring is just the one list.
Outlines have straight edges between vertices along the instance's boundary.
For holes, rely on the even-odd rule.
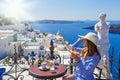
[[111,79],[111,73],[109,69],[109,48],[110,48],[110,43],[109,43],[109,28],[110,28],[110,23],[105,21],[106,14],[105,13],[100,13],[99,15],[100,21],[95,24],[95,31],[98,33],[98,38],[99,42],[98,45],[99,51],[101,54],[101,61],[99,63],[99,66],[102,68],[102,75],[106,79]]

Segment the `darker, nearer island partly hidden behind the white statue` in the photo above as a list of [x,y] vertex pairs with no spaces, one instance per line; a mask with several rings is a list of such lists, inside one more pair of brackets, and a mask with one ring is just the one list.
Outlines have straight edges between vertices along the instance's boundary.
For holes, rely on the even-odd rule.
[[[83,29],[94,30],[94,26],[85,27]],[[111,24],[109,32],[114,34],[120,34],[120,24]]]

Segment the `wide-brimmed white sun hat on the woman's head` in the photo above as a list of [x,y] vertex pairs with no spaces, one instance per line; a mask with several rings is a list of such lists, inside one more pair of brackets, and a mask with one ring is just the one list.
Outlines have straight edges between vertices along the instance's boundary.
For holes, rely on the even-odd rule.
[[88,40],[90,40],[91,42],[93,42],[96,46],[98,46],[97,45],[97,43],[98,43],[98,36],[95,34],[95,33],[93,33],[93,32],[89,32],[88,34],[86,34],[85,36],[81,36],[81,35],[78,35],[79,37],[81,37],[81,38],[85,38],[85,39],[88,39]]

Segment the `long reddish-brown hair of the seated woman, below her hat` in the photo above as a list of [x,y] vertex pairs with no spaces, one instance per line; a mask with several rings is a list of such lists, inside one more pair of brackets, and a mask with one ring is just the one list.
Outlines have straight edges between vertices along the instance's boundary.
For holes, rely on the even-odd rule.
[[86,39],[86,41],[87,41],[87,47],[85,47],[82,50],[82,55],[84,55],[85,53],[87,53],[87,55],[85,56],[85,58],[93,56],[94,54],[100,55],[97,46],[93,42],[91,42],[90,40]]

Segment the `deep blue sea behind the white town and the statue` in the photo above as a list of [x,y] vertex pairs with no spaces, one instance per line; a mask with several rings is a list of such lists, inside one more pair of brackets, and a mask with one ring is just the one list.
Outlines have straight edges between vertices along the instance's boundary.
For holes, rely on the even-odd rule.
[[[88,32],[95,32],[94,30],[83,29],[85,27],[94,26],[98,21],[84,21],[80,23],[30,23],[34,29],[40,32],[56,34],[61,32],[62,36],[70,44],[74,43],[79,37],[78,35],[85,35]],[[111,24],[120,24],[120,21],[107,21]],[[115,60],[110,62],[110,70],[114,80],[119,80],[118,68],[120,68],[120,34],[109,33],[110,49],[109,58]],[[112,55],[113,54],[113,55]],[[112,56],[111,56],[112,55]]]

